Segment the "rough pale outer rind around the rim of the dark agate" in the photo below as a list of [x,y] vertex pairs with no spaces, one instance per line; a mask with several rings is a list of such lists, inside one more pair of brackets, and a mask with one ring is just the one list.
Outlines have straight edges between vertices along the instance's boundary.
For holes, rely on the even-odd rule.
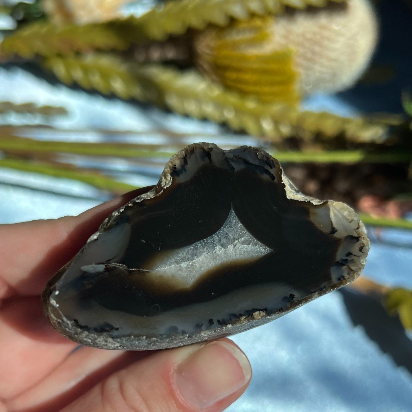
[[[183,165],[185,155],[191,147],[201,147],[205,150],[213,150],[214,148],[217,148],[217,146],[212,143],[198,143],[178,151],[175,155],[173,155],[173,157],[171,157],[170,161],[166,164],[158,185],[149,192],[136,197],[135,199],[131,200],[128,204],[122,206],[121,208],[113,212],[102,223],[98,232],[94,233],[89,238],[86,245],[82,248],[82,250],[80,250],[77,256],[81,255],[83,251],[87,248],[87,245],[90,242],[95,241],[98,238],[98,236],[102,232],[104,232],[107,227],[110,226],[111,221],[120,214],[122,214],[125,208],[132,207],[133,204],[141,202],[145,199],[152,199],[155,196],[161,196],[164,189],[166,189],[172,184],[173,178],[171,176],[171,172]],[[254,150],[258,158],[268,157],[267,153],[263,150]],[[186,167],[188,166],[186,165]],[[291,183],[290,180],[288,180],[288,178],[283,174],[283,171],[282,181],[285,187],[286,197],[288,199],[310,202],[314,205],[319,205],[322,203],[322,201],[320,200],[301,194],[293,185],[293,183]],[[335,290],[346,285],[347,283],[350,283],[351,281],[356,279],[356,277],[361,273],[363,267],[365,266],[366,256],[369,250],[369,240],[367,238],[366,230],[363,223],[360,221],[358,215],[353,211],[352,208],[341,202],[329,200],[328,203],[325,204],[325,206],[317,208],[314,211],[311,211],[310,218],[312,222],[316,225],[316,227],[318,227],[318,229],[322,230],[325,233],[330,231],[330,222],[332,222],[332,225],[335,228],[335,233],[333,234],[333,236],[339,239],[343,239],[346,236],[353,236],[353,238],[356,238],[358,240],[356,241],[356,243],[351,243],[350,250],[348,249],[348,245],[342,243],[339,250],[337,251],[336,260],[346,257],[347,261],[347,274],[344,280],[333,279],[333,273],[331,273],[332,279],[334,280],[334,282],[336,281],[334,286],[328,286],[321,291],[306,296],[304,299],[299,300],[298,302],[293,304],[290,307],[290,309],[286,311],[267,314],[265,311],[259,310],[251,314],[241,316],[239,319],[236,319],[233,323],[230,323],[228,325],[221,325],[217,329],[200,330],[195,335],[174,335],[166,338],[146,338],[145,336],[133,335],[112,337],[108,333],[83,330],[81,328],[78,328],[74,322],[69,321],[64,316],[61,316],[61,318],[59,316],[55,316],[55,310],[57,309],[58,304],[56,304],[56,301],[54,299],[54,293],[57,294],[58,291],[55,291],[53,293],[48,292],[56,282],[54,279],[59,279],[61,277],[61,274],[65,273],[68,270],[71,263],[75,259],[73,258],[72,261],[68,262],[68,264],[65,265],[62,269],[60,269],[60,271],[54,276],[54,278],[52,278],[51,281],[49,281],[49,284],[43,294],[44,312],[47,318],[49,318],[49,321],[52,323],[53,327],[61,335],[66,336],[69,339],[75,340],[75,342],[78,342],[85,346],[117,350],[165,349],[174,346],[183,346],[197,342],[204,342],[210,339],[216,339],[227,335],[233,335],[239,332],[243,332],[244,330],[253,328],[255,326],[263,325],[269,321],[279,318],[280,316],[283,316],[284,314],[289,313],[290,311],[302,306],[307,302],[310,302],[311,300],[314,300],[316,297],[324,295],[328,292],[331,292],[332,290]],[[347,258],[348,254],[350,255],[350,258]]]

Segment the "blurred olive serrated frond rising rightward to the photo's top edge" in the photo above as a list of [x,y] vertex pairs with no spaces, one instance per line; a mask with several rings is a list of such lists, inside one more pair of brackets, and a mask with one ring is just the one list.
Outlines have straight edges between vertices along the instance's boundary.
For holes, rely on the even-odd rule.
[[[342,2],[345,0],[330,0]],[[225,26],[231,18],[247,20],[253,15],[282,14],[284,7],[324,7],[329,0],[176,0],[155,7],[140,17],[113,19],[105,23],[58,25],[35,21],[6,37],[0,56],[69,55],[93,50],[125,50],[132,43],[165,40],[184,34],[189,28],[209,24]]]

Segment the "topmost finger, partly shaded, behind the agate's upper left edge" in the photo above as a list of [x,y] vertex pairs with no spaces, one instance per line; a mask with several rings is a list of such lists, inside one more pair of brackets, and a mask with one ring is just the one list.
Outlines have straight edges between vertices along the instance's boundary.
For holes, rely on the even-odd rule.
[[0,300],[40,295],[112,211],[148,190],[133,190],[78,216],[0,225]]

